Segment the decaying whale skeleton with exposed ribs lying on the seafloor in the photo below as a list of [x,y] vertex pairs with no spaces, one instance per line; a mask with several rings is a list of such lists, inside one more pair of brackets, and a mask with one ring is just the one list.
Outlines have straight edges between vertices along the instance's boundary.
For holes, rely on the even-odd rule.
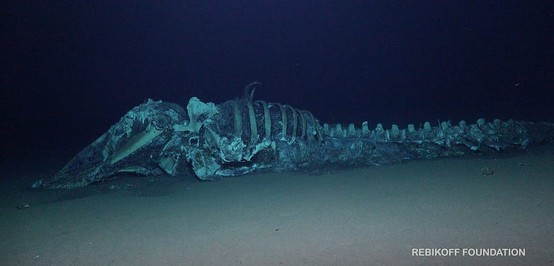
[[321,125],[290,105],[254,100],[259,82],[240,98],[186,109],[147,100],[134,107],[51,178],[35,188],[78,188],[122,173],[195,175],[201,180],[325,166],[379,166],[408,160],[492,154],[553,143],[554,123],[480,118],[436,126]]

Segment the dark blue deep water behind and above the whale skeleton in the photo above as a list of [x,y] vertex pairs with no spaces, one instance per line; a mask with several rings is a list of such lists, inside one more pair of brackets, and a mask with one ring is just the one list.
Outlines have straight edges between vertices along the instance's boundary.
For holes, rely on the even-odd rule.
[[3,166],[253,80],[322,123],[554,118],[548,1],[8,1],[1,32]]

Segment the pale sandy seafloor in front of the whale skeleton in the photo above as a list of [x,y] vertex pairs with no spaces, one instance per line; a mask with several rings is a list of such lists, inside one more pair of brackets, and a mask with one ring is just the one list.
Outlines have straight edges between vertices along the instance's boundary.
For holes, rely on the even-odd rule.
[[[554,265],[552,146],[317,175],[26,188],[61,166],[1,170],[1,265]],[[481,175],[484,166],[494,175]],[[526,256],[411,254],[451,247]]]

